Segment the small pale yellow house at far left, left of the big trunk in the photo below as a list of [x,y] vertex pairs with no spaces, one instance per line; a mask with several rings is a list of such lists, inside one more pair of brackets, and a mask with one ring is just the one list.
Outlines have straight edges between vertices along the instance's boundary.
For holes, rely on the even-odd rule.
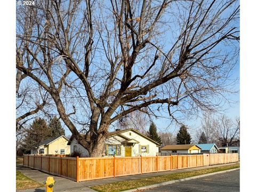
[[43,154],[43,155],[65,155],[70,154],[70,146],[68,144],[68,138],[64,135],[59,137],[50,138],[39,143],[39,146],[35,149],[31,149],[30,154]]

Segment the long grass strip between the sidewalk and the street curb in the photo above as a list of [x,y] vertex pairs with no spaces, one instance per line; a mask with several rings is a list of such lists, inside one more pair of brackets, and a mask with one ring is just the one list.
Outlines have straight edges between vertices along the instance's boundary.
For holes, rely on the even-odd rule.
[[161,175],[161,176],[150,177],[150,178],[114,182],[114,183],[109,183],[106,185],[93,186],[91,188],[94,190],[97,190],[97,191],[101,191],[101,192],[110,192],[110,191],[116,192],[116,191],[122,191],[122,190],[128,190],[128,189],[134,189],[134,188],[138,188],[138,187],[153,185],[155,183],[161,183],[161,182],[165,182],[165,181],[193,177],[196,175],[201,175],[201,174],[206,174],[206,173],[213,173],[213,172],[218,172],[218,171],[235,169],[238,167],[239,167],[239,163],[234,164],[234,165],[214,167],[214,168],[203,169],[203,170],[198,170],[198,171],[188,171],[188,172],[183,172],[183,173],[173,173],[173,174]]

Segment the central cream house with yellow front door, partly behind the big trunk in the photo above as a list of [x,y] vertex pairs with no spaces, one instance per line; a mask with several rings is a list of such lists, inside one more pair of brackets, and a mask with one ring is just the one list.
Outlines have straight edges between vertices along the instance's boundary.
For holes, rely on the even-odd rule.
[[[69,139],[68,145],[71,154],[78,151],[81,157],[89,157],[88,151],[79,145],[73,136]],[[159,143],[135,129],[116,130],[107,134],[102,156],[156,156],[158,148]]]

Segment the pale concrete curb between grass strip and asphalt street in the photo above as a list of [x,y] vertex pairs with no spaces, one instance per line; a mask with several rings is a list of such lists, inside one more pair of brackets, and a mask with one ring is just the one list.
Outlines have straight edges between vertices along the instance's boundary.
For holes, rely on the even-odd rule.
[[151,188],[155,188],[155,187],[170,185],[170,184],[175,183],[175,182],[188,181],[188,180],[191,180],[191,179],[197,179],[197,178],[207,177],[207,176],[215,175],[215,174],[219,174],[219,173],[226,173],[226,172],[230,172],[230,171],[236,171],[236,170],[239,170],[239,169],[240,169],[240,167],[235,168],[235,169],[225,170],[225,171],[218,171],[218,172],[213,172],[213,173],[197,175],[197,176],[193,176],[193,177],[189,177],[189,178],[177,179],[177,180],[172,180],[172,181],[165,181],[165,182],[162,182],[162,183],[156,183],[154,185],[149,185],[149,186],[144,186],[144,187],[138,187],[138,188],[135,188],[135,189],[124,190],[122,192],[133,192],[133,191],[138,191],[138,190],[151,189]]

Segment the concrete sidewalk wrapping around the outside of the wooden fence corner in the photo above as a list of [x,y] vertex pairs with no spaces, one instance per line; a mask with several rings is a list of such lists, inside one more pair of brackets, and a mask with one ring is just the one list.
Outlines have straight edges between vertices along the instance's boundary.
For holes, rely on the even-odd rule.
[[[69,179],[61,178],[58,176],[52,176],[52,175],[43,173],[38,170],[33,170],[28,167],[23,167],[22,165],[17,166],[17,170],[19,170],[21,173],[25,174],[27,177],[29,177],[33,180],[36,180],[38,182],[41,182],[41,183],[43,183],[47,177],[52,176],[54,178],[54,180],[56,181],[55,186],[54,186],[54,192],[65,192],[65,191],[71,191],[71,192],[79,191],[80,192],[80,191],[94,191],[94,190],[90,189],[89,187],[103,185],[103,184],[107,184],[107,183],[113,183],[113,182],[118,182],[118,181],[127,181],[127,180],[132,180],[132,179],[149,178],[149,177],[155,177],[158,175],[167,175],[167,174],[172,174],[172,173],[196,171],[196,170],[202,170],[202,169],[208,169],[208,168],[220,167],[220,166],[227,166],[227,165],[233,165],[233,164],[236,164],[236,163],[194,167],[194,168],[189,168],[189,169],[172,170],[172,171],[164,171],[164,172],[157,172],[157,173],[128,175],[128,176],[123,176],[123,177],[98,179],[98,180],[82,181],[82,182],[75,182],[75,181],[71,181]],[[19,192],[44,192],[44,191],[45,191],[45,188],[19,190]]]

